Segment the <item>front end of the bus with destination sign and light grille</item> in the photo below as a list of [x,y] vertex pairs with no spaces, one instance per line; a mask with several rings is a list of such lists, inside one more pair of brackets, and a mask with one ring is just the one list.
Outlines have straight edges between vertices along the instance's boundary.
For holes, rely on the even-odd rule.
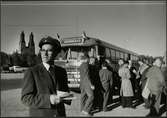
[[82,63],[81,56],[84,53],[95,55],[95,47],[82,37],[71,37],[61,40],[62,50],[55,59],[55,65],[66,69],[68,86],[70,88],[80,87],[79,68]]

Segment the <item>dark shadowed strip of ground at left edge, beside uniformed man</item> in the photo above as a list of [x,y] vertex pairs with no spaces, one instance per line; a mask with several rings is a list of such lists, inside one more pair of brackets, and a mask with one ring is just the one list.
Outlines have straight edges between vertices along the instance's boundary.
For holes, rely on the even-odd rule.
[[2,79],[1,80],[1,91],[10,90],[10,89],[18,89],[22,86],[22,79]]

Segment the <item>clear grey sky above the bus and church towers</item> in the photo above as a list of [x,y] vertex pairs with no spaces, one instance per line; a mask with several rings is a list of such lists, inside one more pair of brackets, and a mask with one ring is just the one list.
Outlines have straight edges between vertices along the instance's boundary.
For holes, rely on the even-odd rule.
[[166,6],[163,2],[2,2],[1,51],[19,49],[34,34],[35,51],[43,36],[80,36],[82,31],[121,48],[149,56],[166,50]]

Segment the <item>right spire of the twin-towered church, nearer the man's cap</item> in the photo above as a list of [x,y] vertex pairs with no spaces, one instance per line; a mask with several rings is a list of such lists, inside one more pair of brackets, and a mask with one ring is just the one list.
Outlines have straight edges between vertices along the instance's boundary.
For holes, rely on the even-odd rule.
[[34,43],[34,35],[31,32],[30,36],[29,36],[29,42],[28,42],[28,48],[31,52],[32,55],[35,55],[35,43]]

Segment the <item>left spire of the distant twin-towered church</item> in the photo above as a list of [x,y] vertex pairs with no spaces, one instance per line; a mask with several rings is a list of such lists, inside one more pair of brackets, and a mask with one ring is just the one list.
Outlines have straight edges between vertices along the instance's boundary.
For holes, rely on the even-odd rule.
[[19,42],[19,51],[21,54],[23,54],[25,48],[26,48],[25,34],[24,31],[22,31],[20,34],[20,42]]

